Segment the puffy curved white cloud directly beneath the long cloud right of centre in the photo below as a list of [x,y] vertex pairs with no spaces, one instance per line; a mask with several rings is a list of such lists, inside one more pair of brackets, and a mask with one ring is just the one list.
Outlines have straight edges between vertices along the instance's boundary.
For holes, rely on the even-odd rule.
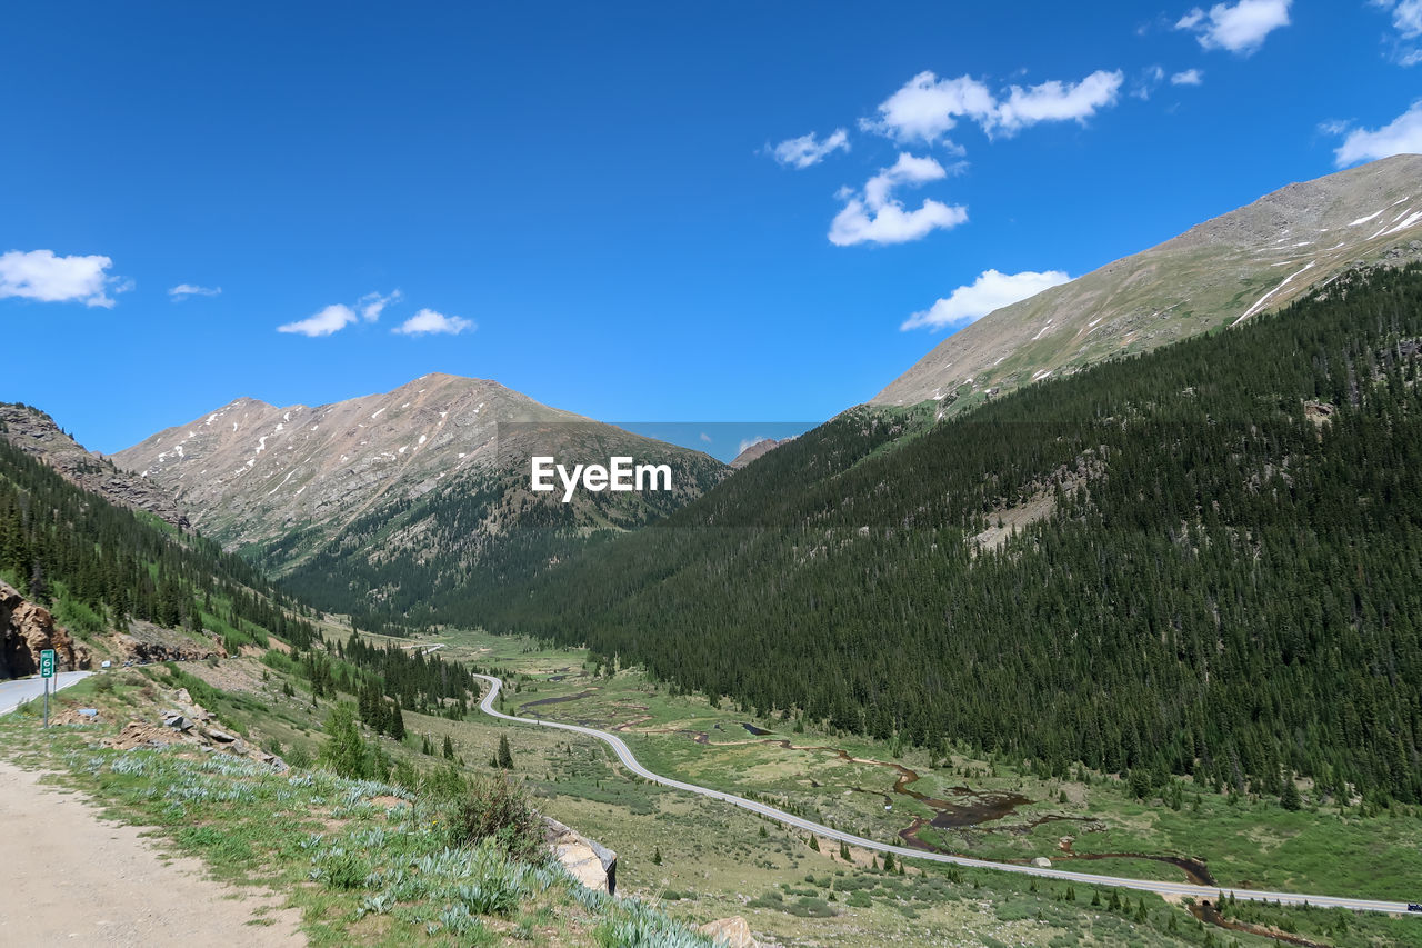
[[904,243],[963,223],[968,219],[967,208],[926,199],[916,211],[907,211],[893,196],[900,185],[920,185],[947,177],[947,169],[933,158],[902,152],[893,167],[866,181],[863,191],[840,191],[845,206],[829,225],[829,242],[836,246]]

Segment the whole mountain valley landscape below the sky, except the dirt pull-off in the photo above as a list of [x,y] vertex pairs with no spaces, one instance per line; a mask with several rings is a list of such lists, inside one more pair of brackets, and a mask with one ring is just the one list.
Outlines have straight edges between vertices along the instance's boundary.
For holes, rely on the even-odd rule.
[[65,685],[0,756],[317,945],[1422,945],[1418,188],[729,465],[444,373],[112,457],[0,406],[0,673]]

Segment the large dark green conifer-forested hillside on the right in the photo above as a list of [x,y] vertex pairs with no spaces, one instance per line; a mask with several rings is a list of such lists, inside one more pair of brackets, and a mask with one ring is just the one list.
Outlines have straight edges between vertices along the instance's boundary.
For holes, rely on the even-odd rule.
[[846,413],[448,616],[929,746],[1422,799],[1422,269],[916,437]]

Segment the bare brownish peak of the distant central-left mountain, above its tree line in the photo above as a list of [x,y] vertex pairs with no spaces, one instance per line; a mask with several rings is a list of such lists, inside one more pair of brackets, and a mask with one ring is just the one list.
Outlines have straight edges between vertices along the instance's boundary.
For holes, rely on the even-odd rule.
[[552,409],[498,381],[445,373],[314,407],[237,399],[114,458],[202,511],[198,527],[229,547],[279,544],[307,532],[309,552],[353,518],[408,507],[427,494],[475,485],[471,494],[482,497],[491,478],[509,477],[513,467],[526,487],[528,458],[516,465],[513,458],[539,438],[616,443],[629,453],[671,454],[697,470],[724,470],[704,455],[693,461],[691,451]]

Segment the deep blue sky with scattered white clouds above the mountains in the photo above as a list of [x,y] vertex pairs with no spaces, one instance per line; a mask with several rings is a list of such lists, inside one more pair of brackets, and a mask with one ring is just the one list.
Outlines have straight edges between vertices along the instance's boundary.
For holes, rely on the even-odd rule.
[[448,372],[732,441],[1422,151],[1422,0],[988,6],[11,6],[0,399],[114,451]]

